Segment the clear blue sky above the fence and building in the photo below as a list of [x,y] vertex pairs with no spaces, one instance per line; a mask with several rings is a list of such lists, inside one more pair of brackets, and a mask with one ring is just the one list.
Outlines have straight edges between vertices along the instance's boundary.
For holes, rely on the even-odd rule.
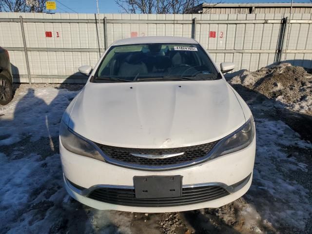
[[[69,8],[77,11],[78,13],[96,13],[97,4],[96,0],[58,0]],[[57,2],[57,11],[56,12],[68,12],[74,13],[65,6]],[[210,2],[207,0],[206,2]],[[223,1],[226,3],[235,3],[235,2],[244,2],[244,3],[253,3],[253,2],[291,2],[291,0],[227,0]],[[294,2],[310,2],[310,0],[294,0]],[[98,0],[100,13],[120,13],[119,7],[115,3],[115,0]]]

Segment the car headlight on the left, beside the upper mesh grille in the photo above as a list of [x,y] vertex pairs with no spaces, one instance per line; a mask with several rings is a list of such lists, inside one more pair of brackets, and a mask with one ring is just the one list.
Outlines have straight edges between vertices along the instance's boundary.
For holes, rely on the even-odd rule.
[[92,157],[100,161],[104,161],[104,158],[98,151],[98,147],[92,141],[81,137],[74,131],[68,128],[68,126],[61,121],[59,128],[59,136],[62,145],[70,152],[78,155]]

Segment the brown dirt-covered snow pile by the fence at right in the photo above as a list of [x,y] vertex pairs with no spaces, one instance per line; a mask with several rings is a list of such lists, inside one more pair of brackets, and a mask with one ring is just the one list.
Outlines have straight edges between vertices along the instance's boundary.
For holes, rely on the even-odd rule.
[[312,115],[312,75],[303,67],[281,63],[255,72],[244,71],[229,83],[243,85],[275,98],[293,111]]

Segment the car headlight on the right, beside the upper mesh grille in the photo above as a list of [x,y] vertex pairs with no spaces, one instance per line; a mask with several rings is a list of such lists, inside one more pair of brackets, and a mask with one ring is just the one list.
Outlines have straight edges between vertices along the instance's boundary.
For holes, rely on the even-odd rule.
[[210,159],[244,149],[253,141],[253,139],[254,118],[250,117],[243,126],[237,129],[234,133],[223,138],[218,143],[218,146]]

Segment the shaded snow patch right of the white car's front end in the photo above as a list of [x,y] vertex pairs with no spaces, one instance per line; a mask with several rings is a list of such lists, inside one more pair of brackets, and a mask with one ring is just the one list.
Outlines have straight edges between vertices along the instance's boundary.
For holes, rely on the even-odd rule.
[[301,140],[282,121],[256,119],[256,129],[254,180],[247,197],[259,208],[262,218],[304,230],[312,214],[310,191],[284,175],[301,171],[302,165],[294,156],[288,157],[283,149],[289,146],[312,149],[312,144]]

